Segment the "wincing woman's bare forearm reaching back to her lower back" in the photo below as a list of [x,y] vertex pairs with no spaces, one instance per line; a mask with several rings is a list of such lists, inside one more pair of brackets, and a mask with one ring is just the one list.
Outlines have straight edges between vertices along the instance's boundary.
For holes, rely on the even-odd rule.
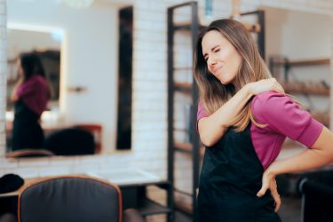
[[311,148],[288,159],[275,161],[267,168],[266,173],[276,176],[282,173],[312,170],[332,162],[333,134],[324,127]]

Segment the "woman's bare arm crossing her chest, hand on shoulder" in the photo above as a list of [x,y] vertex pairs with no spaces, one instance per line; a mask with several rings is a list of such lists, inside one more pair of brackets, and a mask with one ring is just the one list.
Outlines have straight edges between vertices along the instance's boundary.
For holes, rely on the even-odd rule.
[[248,83],[229,99],[226,104],[208,117],[198,122],[198,131],[202,144],[210,147],[221,139],[227,130],[227,123],[238,115],[249,99],[264,91],[279,91],[284,93],[281,85],[274,79],[260,80]]

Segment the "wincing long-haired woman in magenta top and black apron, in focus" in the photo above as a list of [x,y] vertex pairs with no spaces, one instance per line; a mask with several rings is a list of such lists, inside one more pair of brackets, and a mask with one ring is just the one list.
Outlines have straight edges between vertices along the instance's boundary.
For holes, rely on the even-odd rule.
[[[200,92],[197,127],[206,146],[198,194],[200,222],[281,221],[276,213],[281,204],[276,175],[310,170],[333,160],[329,147],[333,134],[281,93],[279,85],[275,85],[277,91],[258,88],[249,93],[254,82],[275,84],[270,77],[242,23],[216,20],[198,36],[194,54],[194,78]],[[311,148],[274,162],[286,137]]]

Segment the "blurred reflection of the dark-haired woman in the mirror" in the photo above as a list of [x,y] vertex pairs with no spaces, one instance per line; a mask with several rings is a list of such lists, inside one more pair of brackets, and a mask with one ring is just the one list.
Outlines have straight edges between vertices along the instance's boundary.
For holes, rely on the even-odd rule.
[[40,117],[50,99],[44,67],[34,53],[23,53],[18,60],[19,80],[11,99],[15,102],[12,127],[12,151],[43,146]]

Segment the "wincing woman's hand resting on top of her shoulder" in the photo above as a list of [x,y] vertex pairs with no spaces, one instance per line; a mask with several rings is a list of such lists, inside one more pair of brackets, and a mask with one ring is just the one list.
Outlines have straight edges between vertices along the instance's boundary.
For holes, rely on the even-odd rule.
[[248,83],[247,85],[252,95],[258,95],[265,91],[277,91],[285,94],[281,84],[275,78],[262,79],[254,83]]

